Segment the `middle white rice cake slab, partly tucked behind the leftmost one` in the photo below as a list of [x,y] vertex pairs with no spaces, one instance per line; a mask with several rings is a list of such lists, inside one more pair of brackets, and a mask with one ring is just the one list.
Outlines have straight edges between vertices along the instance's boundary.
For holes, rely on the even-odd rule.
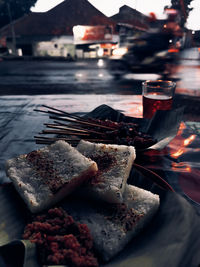
[[110,203],[121,203],[135,160],[135,148],[125,145],[96,144],[81,140],[77,150],[97,163],[98,173],[86,192]]

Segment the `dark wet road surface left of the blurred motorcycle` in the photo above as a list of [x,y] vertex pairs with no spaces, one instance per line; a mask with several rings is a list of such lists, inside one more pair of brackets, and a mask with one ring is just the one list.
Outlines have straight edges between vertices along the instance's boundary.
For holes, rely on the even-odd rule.
[[102,94],[135,93],[141,82],[113,79],[106,60],[3,61],[0,63],[1,94]]

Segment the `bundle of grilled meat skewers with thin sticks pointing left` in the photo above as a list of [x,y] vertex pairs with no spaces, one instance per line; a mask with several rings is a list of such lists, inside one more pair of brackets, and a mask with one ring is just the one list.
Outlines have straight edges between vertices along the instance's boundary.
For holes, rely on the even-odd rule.
[[151,136],[141,132],[139,125],[135,123],[86,118],[47,105],[42,107],[45,109],[35,111],[47,113],[52,123],[44,123],[46,129],[34,136],[37,144],[52,144],[64,140],[76,146],[84,139],[89,142],[132,145],[136,149],[145,149],[156,143]]

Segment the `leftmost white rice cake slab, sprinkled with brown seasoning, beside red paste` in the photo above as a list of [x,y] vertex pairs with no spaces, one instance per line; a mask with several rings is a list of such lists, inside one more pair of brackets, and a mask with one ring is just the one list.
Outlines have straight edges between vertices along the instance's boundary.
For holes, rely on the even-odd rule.
[[95,175],[97,165],[64,141],[6,162],[7,176],[31,212],[40,212]]

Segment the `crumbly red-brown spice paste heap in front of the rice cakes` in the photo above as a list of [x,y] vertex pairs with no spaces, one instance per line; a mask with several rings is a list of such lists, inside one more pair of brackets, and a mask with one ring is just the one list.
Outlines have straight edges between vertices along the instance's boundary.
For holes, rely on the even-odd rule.
[[87,225],[74,221],[62,208],[35,216],[25,227],[23,238],[36,243],[44,265],[98,266]]

